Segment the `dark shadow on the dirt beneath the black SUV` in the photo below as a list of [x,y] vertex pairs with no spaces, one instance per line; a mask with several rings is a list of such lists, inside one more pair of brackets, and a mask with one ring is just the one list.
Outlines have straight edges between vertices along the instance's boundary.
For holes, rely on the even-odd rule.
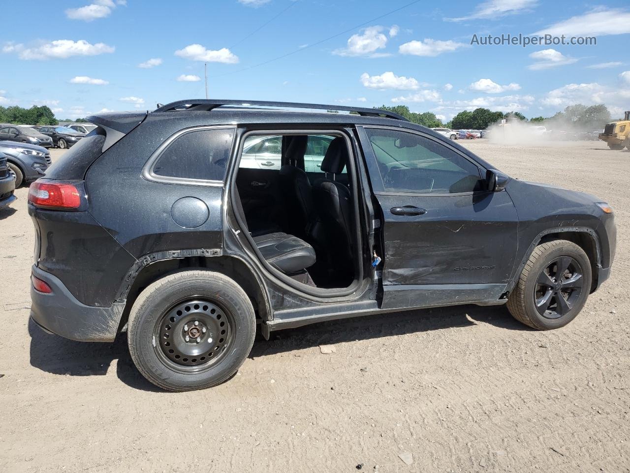
[[[249,358],[300,350],[321,344],[386,338],[452,327],[473,327],[479,323],[508,330],[530,330],[514,320],[503,306],[457,306],[411,310],[281,330],[272,332],[269,341],[265,341],[259,333]],[[113,343],[74,342],[47,334],[32,320],[28,322],[28,333],[31,336],[30,363],[39,370],[54,375],[104,376],[116,361],[116,374],[123,383],[135,389],[164,392],[145,380],[136,370],[127,349],[126,334],[120,334]]]

